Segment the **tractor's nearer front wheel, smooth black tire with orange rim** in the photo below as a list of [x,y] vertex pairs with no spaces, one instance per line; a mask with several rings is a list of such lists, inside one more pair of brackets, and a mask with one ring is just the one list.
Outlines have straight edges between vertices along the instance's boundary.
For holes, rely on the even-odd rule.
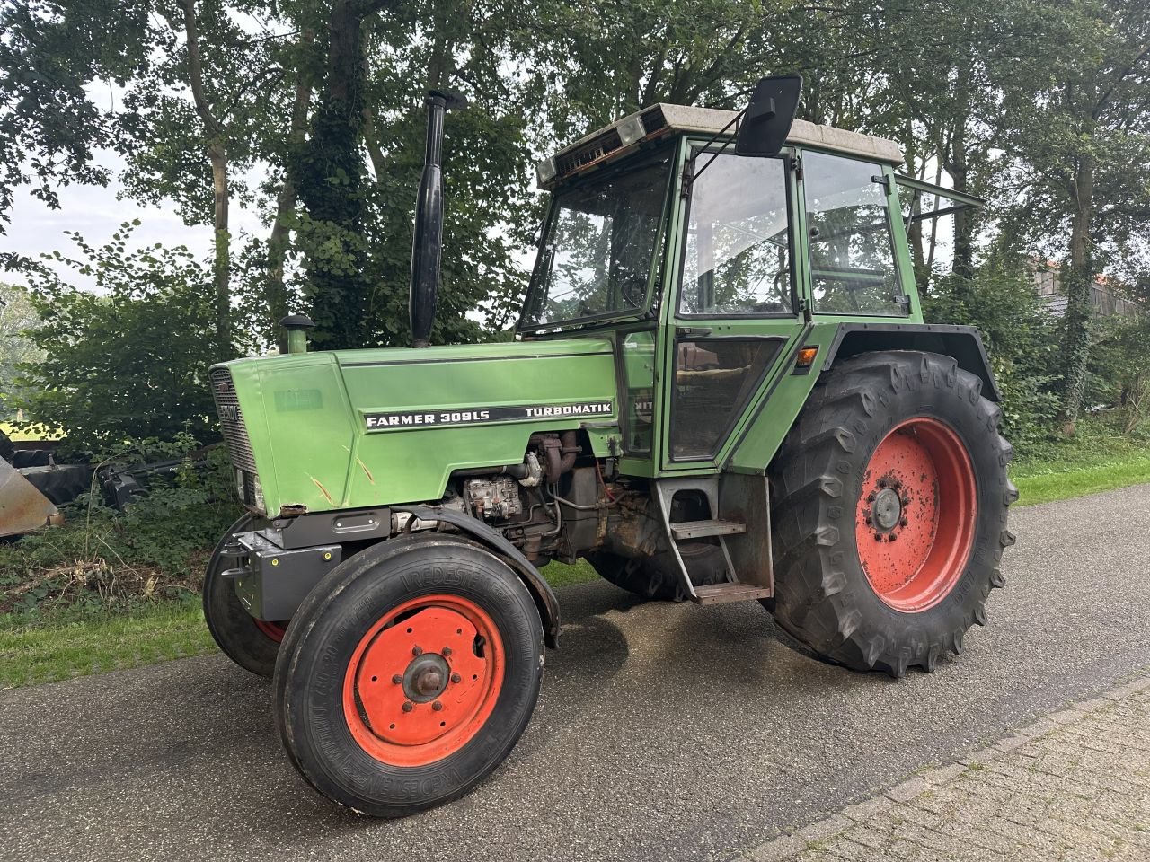
[[358,811],[400,817],[467,793],[535,709],[543,625],[483,546],[383,541],[305,600],[276,665],[276,725],[300,775]]

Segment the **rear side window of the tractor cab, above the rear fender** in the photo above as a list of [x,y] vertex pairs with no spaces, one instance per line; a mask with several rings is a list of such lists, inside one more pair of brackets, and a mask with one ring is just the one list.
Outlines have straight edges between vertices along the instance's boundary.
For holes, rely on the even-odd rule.
[[906,316],[882,167],[806,153],[803,174],[814,310]]

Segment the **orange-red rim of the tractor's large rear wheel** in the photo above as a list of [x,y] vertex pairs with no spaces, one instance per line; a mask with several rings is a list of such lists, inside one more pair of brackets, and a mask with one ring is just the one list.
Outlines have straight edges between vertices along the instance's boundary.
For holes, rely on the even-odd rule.
[[945,599],[969,560],[976,515],[958,433],[928,417],[896,425],[871,455],[856,509],[859,562],[875,594],[908,614]]

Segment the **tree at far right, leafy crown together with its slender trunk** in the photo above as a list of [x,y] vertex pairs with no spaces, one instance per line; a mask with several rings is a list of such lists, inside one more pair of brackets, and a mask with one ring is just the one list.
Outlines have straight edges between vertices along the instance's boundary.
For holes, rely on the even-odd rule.
[[[1150,218],[1150,7],[1120,0],[1023,5],[1041,34],[1032,61],[999,70],[1010,117],[1004,160],[1020,206],[1006,230],[1061,233],[1061,420],[1073,434],[1091,351],[1090,288]],[[1045,49],[1044,49],[1045,48]],[[1138,170],[1138,167],[1142,170]],[[1036,231],[1034,225],[1038,225]],[[1049,236],[1049,233],[1048,233]]]

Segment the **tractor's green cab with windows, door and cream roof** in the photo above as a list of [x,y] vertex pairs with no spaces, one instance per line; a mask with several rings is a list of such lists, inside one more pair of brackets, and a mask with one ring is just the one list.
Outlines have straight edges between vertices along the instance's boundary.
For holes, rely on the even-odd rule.
[[743,428],[772,393],[802,399],[835,324],[921,322],[897,145],[776,110],[764,152],[739,116],[654,105],[538,166],[518,329],[612,339],[624,470],[761,470],[787,423]]

